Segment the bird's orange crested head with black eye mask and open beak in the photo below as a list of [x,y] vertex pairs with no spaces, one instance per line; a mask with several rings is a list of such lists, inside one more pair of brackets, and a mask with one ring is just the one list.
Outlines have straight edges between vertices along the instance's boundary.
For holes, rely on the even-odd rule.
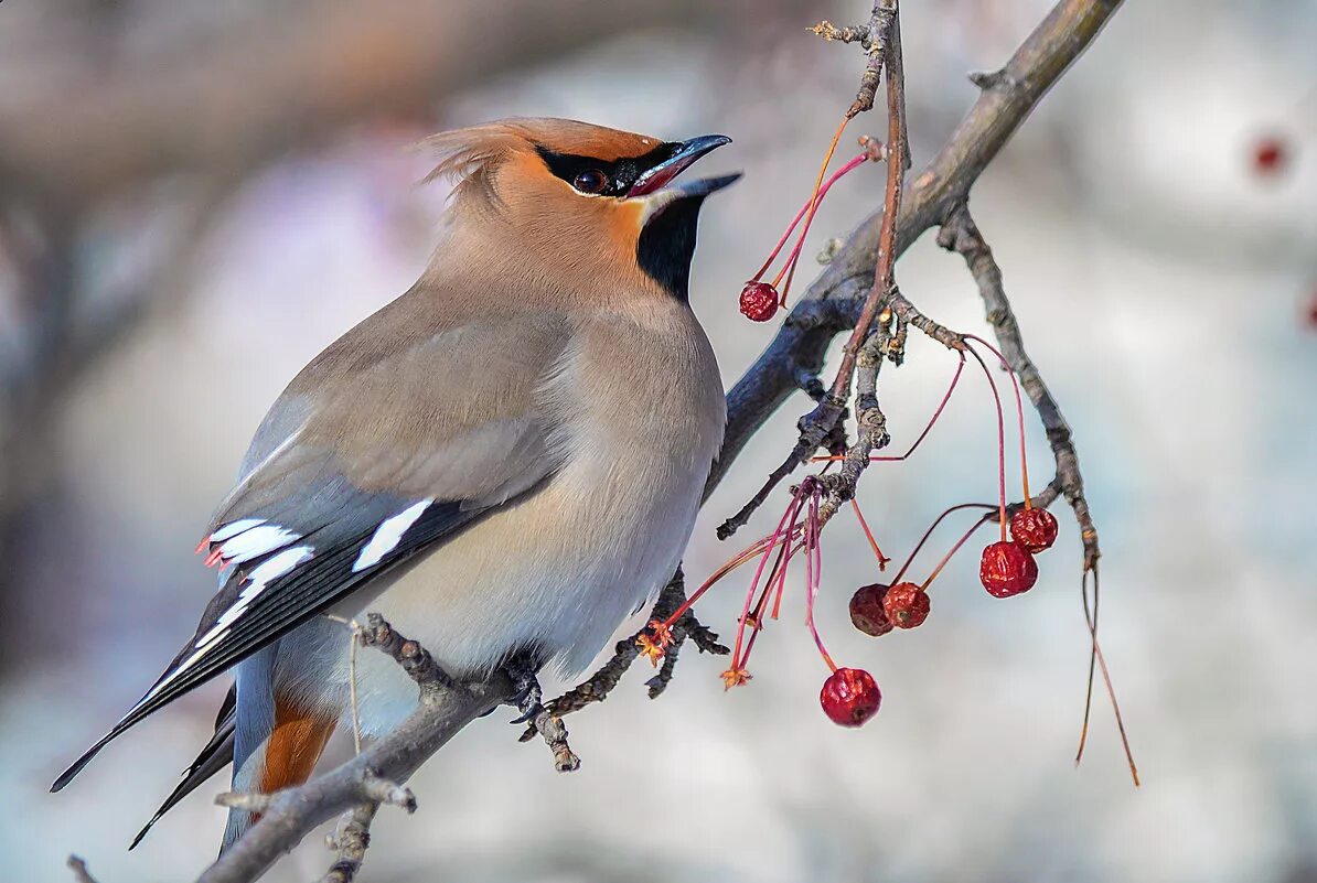
[[705,197],[739,174],[677,180],[726,136],[660,141],[574,120],[515,118],[428,139],[453,176],[458,224],[578,279],[619,274],[686,299]]

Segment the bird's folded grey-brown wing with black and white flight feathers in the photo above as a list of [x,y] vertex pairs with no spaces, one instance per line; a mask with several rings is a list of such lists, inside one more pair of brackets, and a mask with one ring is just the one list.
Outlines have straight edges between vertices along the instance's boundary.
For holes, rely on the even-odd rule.
[[558,468],[569,320],[417,329],[398,304],[321,353],[271,408],[202,542],[225,578],[196,633],[53,790],[148,715]]

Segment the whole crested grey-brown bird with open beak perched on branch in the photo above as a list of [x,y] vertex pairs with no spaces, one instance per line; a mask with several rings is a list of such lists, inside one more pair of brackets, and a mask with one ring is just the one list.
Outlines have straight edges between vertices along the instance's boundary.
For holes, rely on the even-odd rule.
[[[740,175],[678,175],[730,141],[507,118],[423,142],[453,182],[425,270],[271,405],[198,547],[220,587],[195,634],[51,791],[229,670],[133,846],[229,762],[234,791],[306,782],[353,711],[381,736],[416,705],[383,654],[349,665],[367,609],[450,675],[582,671],[677,570],[722,445],[690,265]],[[232,809],[221,850],[254,821]]]

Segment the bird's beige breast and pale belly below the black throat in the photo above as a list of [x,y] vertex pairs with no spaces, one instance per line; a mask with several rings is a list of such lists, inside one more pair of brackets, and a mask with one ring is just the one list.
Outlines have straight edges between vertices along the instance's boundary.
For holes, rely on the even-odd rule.
[[[583,324],[541,390],[560,409],[562,467],[395,575],[370,609],[454,672],[529,645],[560,671],[587,666],[670,578],[722,442],[712,351],[693,316],[681,322]],[[415,688],[366,665],[363,708],[389,726]]]

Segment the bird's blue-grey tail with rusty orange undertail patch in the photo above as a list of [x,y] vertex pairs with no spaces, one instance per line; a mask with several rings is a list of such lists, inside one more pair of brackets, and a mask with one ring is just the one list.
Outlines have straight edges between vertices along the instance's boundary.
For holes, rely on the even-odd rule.
[[[281,690],[274,678],[279,642],[238,666],[237,717],[233,745],[233,791],[271,794],[311,778],[338,715]],[[230,809],[223,853],[259,815]]]

